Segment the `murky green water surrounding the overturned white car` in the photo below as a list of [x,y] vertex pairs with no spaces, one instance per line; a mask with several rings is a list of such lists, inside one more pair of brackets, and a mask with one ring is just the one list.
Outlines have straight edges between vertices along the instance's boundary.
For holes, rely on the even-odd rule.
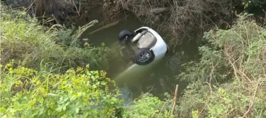
[[[128,66],[128,63],[123,61],[119,56],[119,48],[121,48],[121,45],[118,42],[118,34],[124,29],[134,31],[135,29],[144,26],[144,24],[132,13],[126,12],[126,18],[125,16],[121,17],[121,22],[119,22],[119,24],[93,34],[88,34],[101,27],[101,23],[106,21],[106,17],[99,11],[100,7],[90,9],[87,13],[89,15],[77,19],[76,24],[82,26],[94,19],[99,21],[98,24],[85,31],[81,38],[88,39],[88,42],[93,43],[94,45],[100,45],[104,42],[107,47],[111,48],[113,53],[109,58],[110,65],[109,70],[107,70],[108,77],[114,79],[116,83],[118,83],[123,94],[122,97],[126,102],[138,97],[142,92],[145,93],[148,91],[155,96],[163,98],[165,92],[170,94],[173,93],[176,84],[179,84],[179,94],[181,94],[187,83],[177,80],[176,75],[180,73],[181,64],[183,62],[194,60],[196,58],[195,55],[198,55],[196,43],[191,40],[189,42],[184,42],[181,46],[175,48],[175,50],[170,48],[170,51],[166,54],[165,58],[153,66],[147,67],[138,72],[129,72],[122,78],[117,79],[117,76]],[[148,27],[156,30],[156,27]],[[166,42],[168,42],[169,39],[165,38],[167,37],[165,34],[160,32],[159,34]]]

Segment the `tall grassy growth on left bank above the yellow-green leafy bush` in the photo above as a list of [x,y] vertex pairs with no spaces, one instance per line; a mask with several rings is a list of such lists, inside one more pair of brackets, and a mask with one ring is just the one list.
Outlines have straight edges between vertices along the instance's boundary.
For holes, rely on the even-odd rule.
[[[93,26],[94,20],[76,31],[60,25],[51,28],[38,25],[25,11],[12,10],[1,5],[1,64],[14,60],[22,66],[40,70],[42,64],[66,71],[71,67],[108,69],[109,48],[77,45],[80,34]],[[48,65],[47,65],[48,66]]]

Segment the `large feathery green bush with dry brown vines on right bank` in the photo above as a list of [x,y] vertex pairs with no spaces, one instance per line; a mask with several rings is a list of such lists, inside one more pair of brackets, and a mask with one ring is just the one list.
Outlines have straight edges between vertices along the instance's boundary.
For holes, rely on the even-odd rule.
[[209,44],[200,47],[201,60],[184,65],[186,71],[179,76],[192,83],[176,113],[180,117],[266,117],[265,32],[246,13],[238,15],[229,30],[206,32]]

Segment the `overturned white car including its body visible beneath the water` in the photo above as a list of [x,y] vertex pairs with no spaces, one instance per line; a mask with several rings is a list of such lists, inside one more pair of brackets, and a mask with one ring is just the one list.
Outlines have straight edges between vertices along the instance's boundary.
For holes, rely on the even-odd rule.
[[168,52],[168,46],[162,37],[149,27],[141,27],[134,33],[123,30],[118,38],[123,45],[121,56],[129,67],[115,77],[116,82],[132,80],[130,78],[136,80],[142,73],[153,68]]

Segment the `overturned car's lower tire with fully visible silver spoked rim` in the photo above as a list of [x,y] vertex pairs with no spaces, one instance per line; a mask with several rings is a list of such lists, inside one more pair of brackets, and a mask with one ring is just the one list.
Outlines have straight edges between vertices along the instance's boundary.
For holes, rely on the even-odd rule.
[[149,48],[140,48],[134,55],[134,62],[138,65],[147,65],[151,63],[155,58],[152,50]]

